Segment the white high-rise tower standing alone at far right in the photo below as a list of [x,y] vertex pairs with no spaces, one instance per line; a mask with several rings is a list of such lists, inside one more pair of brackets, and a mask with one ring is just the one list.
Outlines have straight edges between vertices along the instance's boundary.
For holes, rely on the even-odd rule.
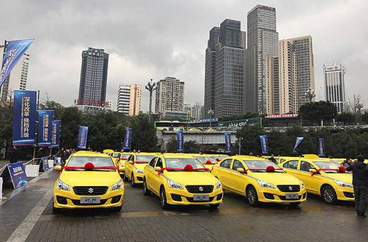
[[336,105],[338,113],[344,113],[346,110],[345,67],[342,64],[324,64],[323,77],[326,100]]

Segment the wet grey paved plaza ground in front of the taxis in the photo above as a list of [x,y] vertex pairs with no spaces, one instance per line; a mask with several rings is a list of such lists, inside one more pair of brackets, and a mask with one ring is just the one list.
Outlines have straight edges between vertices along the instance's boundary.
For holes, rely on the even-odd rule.
[[286,204],[251,207],[225,192],[224,203],[162,210],[159,197],[125,183],[122,212],[78,209],[52,214],[55,171],[25,188],[6,188],[0,206],[0,241],[367,241],[368,219],[351,202],[323,203],[309,195],[298,208]]

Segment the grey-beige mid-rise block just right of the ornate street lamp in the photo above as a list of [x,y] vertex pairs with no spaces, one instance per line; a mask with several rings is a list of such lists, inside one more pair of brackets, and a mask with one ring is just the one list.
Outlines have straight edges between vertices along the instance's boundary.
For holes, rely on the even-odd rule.
[[184,81],[166,77],[157,83],[155,113],[163,111],[183,112]]

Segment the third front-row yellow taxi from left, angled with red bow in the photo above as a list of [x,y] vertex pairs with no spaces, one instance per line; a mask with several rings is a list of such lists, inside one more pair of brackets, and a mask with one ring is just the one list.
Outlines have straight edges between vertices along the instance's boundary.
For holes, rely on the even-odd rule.
[[251,206],[259,202],[288,202],[297,206],[306,201],[301,180],[282,171],[275,163],[255,156],[230,156],[213,166],[224,190],[246,196]]

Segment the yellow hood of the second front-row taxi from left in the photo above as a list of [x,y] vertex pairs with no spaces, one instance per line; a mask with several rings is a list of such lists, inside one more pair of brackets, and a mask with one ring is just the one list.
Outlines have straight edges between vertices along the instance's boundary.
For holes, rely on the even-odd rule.
[[168,179],[181,185],[216,185],[218,179],[209,172],[200,171],[165,171]]

